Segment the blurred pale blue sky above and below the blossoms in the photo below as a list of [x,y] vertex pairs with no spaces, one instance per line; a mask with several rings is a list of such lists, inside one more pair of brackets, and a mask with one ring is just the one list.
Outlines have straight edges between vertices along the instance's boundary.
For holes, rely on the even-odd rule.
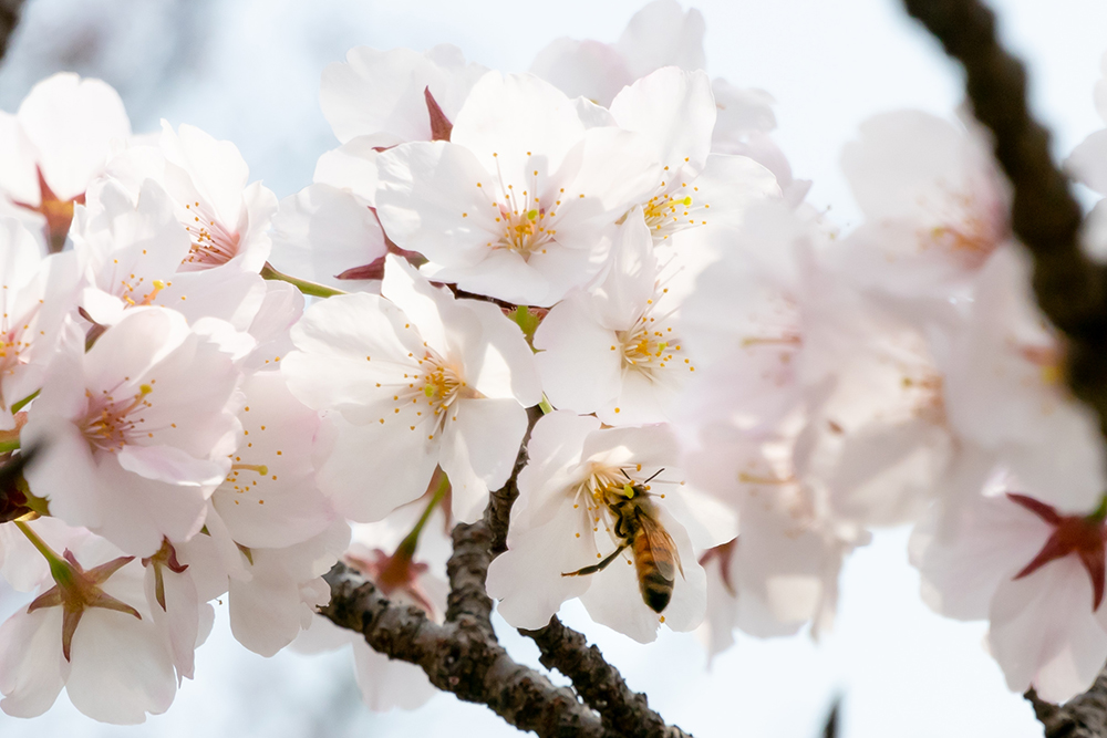
[[[159,118],[235,142],[284,197],[310,184],[315,159],[338,145],[319,110],[323,67],[348,49],[448,42],[508,72],[562,35],[613,42],[641,0],[28,0],[0,64],[0,108],[13,112],[53,72],[97,76],[123,96],[136,133]],[[687,4],[687,3],[685,3]],[[866,117],[921,108],[952,116],[961,75],[894,0],[700,0],[707,66],[776,98],[776,139],[808,197],[844,229],[859,221],[838,169],[842,144]],[[1107,50],[1103,0],[993,0],[1001,32],[1027,61],[1032,103],[1054,132],[1058,158],[1104,127],[1092,102]],[[2,166],[2,163],[0,163]],[[744,636],[710,665],[694,635],[662,631],[641,646],[590,623],[582,630],[630,685],[672,723],[701,738],[815,738],[841,698],[840,738],[973,736],[1030,738],[1042,728],[984,652],[983,623],[956,623],[919,601],[907,530],[877,534],[847,562],[835,630],[758,641]],[[2,585],[0,585],[2,586]],[[19,606],[0,589],[0,615]],[[113,727],[73,709],[64,694],[41,718],[0,714],[4,738],[266,736],[514,736],[480,706],[439,695],[415,713],[372,714],[359,699],[348,652],[258,657],[231,638],[226,612],[197,654],[166,715]],[[501,621],[520,661],[537,648]],[[559,679],[555,675],[555,679]]]

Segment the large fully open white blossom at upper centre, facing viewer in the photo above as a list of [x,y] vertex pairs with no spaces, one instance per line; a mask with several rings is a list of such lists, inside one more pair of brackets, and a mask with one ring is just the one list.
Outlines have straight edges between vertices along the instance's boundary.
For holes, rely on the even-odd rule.
[[660,181],[641,136],[587,128],[573,103],[530,76],[490,72],[449,142],[379,159],[377,215],[423,272],[466,291],[548,306],[603,266],[610,228]]

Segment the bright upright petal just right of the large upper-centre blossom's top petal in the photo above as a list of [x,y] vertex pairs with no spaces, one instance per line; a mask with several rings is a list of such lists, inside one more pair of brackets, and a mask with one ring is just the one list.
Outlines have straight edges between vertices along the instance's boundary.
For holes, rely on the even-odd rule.
[[611,103],[621,128],[646,136],[670,171],[697,174],[711,150],[715,98],[702,70],[666,66],[640,79]]

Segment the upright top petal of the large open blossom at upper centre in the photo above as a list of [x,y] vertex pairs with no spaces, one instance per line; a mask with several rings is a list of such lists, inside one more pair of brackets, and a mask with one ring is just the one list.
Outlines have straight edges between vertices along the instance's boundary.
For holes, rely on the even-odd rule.
[[530,152],[556,171],[584,126],[563,92],[538,77],[488,72],[473,85],[454,118],[451,141],[510,178],[528,167]]

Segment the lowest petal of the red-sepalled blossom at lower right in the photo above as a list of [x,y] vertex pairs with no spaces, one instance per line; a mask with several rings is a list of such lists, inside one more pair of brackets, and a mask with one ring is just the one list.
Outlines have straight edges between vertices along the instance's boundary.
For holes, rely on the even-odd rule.
[[1107,658],[1107,633],[1075,557],[1001,582],[990,620],[989,646],[1014,692],[1033,686],[1044,699],[1066,701],[1092,685]]

